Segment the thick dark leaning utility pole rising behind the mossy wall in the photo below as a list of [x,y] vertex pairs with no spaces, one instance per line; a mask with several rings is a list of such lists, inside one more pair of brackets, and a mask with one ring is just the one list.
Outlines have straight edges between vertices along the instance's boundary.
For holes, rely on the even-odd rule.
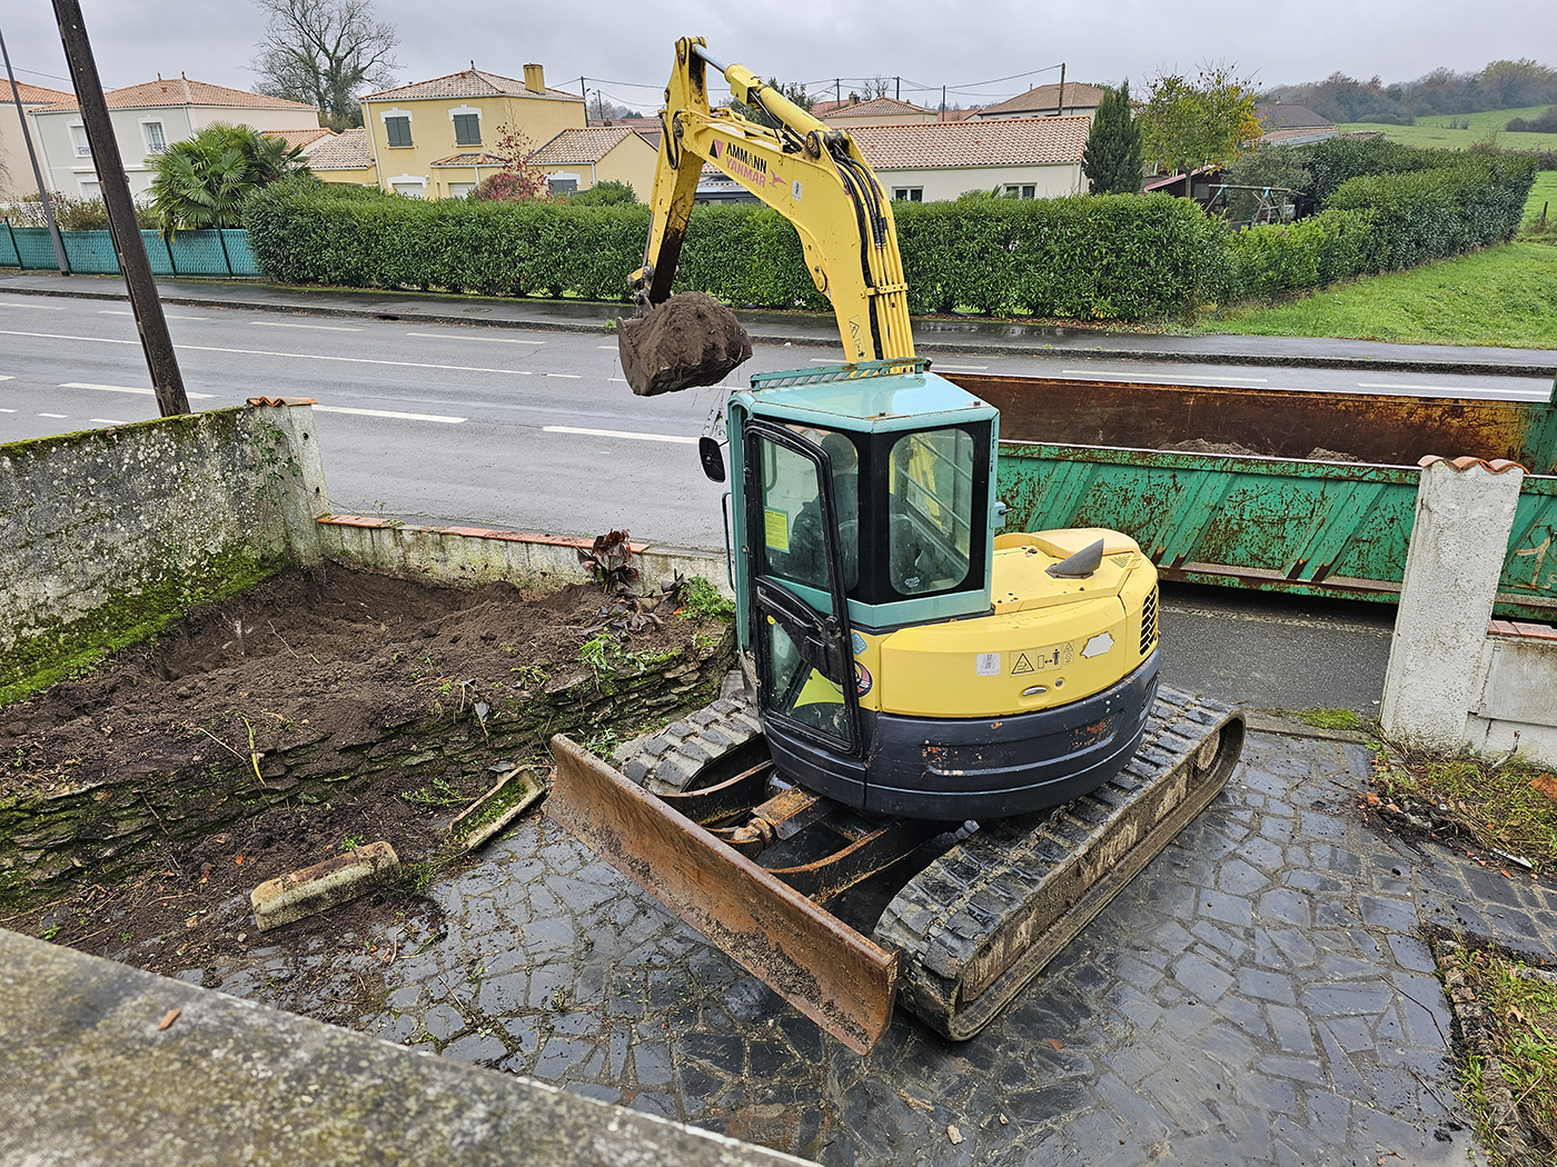
[[163,417],[187,414],[188,397],[184,394],[184,377],[179,373],[179,358],[173,352],[168,322],[157,299],[157,285],[151,279],[151,261],[146,244],[135,223],[135,204],[129,198],[129,177],[114,138],[114,124],[103,100],[103,82],[98,79],[97,61],[92,59],[92,42],[81,19],[79,0],[54,0],[54,19],[59,20],[59,40],[70,62],[70,79],[81,103],[81,120],[86,123],[87,145],[92,149],[92,165],[103,187],[103,202],[107,207],[107,226],[118,255],[118,269],[125,272],[125,288],[129,291],[129,307],[135,313],[135,330],[151,372],[151,387],[157,394],[157,411]]

